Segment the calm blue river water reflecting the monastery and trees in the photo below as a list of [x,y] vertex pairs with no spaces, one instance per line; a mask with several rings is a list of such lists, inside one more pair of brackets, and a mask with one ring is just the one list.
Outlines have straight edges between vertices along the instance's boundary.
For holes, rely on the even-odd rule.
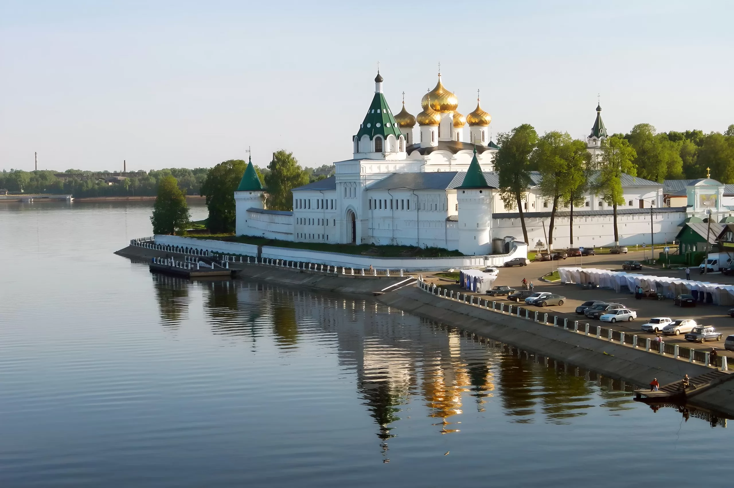
[[731,428],[592,371],[112,254],[150,210],[1,204],[1,487],[728,484]]

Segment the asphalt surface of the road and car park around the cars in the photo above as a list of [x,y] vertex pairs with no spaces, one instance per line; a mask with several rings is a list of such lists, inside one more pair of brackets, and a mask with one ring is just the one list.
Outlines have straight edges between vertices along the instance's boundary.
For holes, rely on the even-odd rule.
[[[650,252],[647,252],[647,256]],[[557,293],[567,298],[564,300],[562,306],[550,306],[547,308],[531,307],[529,309],[542,310],[557,314],[559,316],[567,317],[569,320],[578,320],[580,323],[586,323],[595,327],[596,325],[602,325],[603,327],[611,327],[615,330],[622,330],[625,333],[636,333],[640,337],[649,337],[653,339],[655,337],[652,333],[644,333],[641,330],[641,326],[647,323],[648,319],[652,317],[670,317],[672,319],[694,319],[697,323],[702,325],[713,325],[716,331],[721,332],[723,338],[734,334],[734,318],[727,314],[727,311],[732,308],[730,306],[714,306],[714,305],[701,305],[691,308],[680,308],[673,305],[672,299],[667,300],[651,300],[643,299],[636,300],[634,295],[628,293],[616,293],[614,290],[609,289],[595,289],[585,290],[576,286],[575,284],[560,284],[559,283],[545,283],[540,281],[539,278],[544,276],[551,271],[556,270],[559,266],[561,267],[597,267],[609,270],[622,270],[622,262],[628,260],[642,260],[642,252],[631,252],[628,254],[601,254],[598,256],[584,256],[583,258],[569,258],[558,262],[531,262],[528,266],[523,267],[502,267],[500,273],[495,281],[496,285],[508,285],[520,289],[523,278],[528,281],[532,281],[534,289],[539,292],[551,292]],[[636,273],[651,274],[655,276],[672,276],[677,278],[686,278],[684,270],[660,270],[653,267],[643,267],[642,271],[636,271]],[[435,281],[439,286],[447,286],[451,289],[459,290],[457,285],[452,285],[450,281],[440,280],[434,276],[425,276],[426,281]],[[711,281],[713,283],[725,283],[734,284],[733,276],[723,276],[720,273],[710,274],[702,279],[698,273],[698,269],[694,268],[691,270],[691,279],[700,279],[701,281]],[[495,301],[509,303],[505,297],[495,297]],[[637,312],[637,319],[632,322],[622,322],[617,324],[610,324],[608,322],[600,322],[598,320],[586,319],[584,315],[575,314],[575,308],[586,300],[604,300],[606,302],[623,303],[625,306]],[[683,339],[683,334],[680,336],[664,336],[666,343],[671,344],[686,344],[687,347],[694,347],[710,349],[716,347],[719,350],[724,349],[724,341],[709,341],[704,344],[692,344]],[[733,355],[728,353],[727,355]]]

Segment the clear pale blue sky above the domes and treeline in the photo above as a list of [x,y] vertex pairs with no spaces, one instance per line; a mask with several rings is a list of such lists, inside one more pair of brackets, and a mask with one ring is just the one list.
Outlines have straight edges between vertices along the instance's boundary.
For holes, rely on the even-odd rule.
[[393,113],[443,83],[493,133],[723,132],[727,1],[37,1],[0,4],[0,169],[305,166],[352,157],[377,62]]

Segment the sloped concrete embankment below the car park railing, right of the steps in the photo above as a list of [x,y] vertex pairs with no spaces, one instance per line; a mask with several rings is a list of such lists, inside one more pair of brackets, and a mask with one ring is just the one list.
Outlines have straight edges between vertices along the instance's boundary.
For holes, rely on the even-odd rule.
[[[542,325],[509,314],[471,306],[456,300],[430,295],[411,286],[377,298],[411,314],[468,330],[487,338],[512,344],[592,369],[608,377],[644,387],[653,378],[662,385],[680,380],[684,374],[696,377],[711,371],[700,364],[680,361],[633,347],[585,336],[563,328]],[[734,415],[734,382],[726,382],[690,399],[691,404]]]

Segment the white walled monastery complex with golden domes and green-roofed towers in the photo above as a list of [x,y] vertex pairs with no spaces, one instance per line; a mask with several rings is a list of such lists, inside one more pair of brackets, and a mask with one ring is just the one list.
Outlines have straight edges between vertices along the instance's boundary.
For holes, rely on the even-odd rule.
[[[499,197],[490,141],[490,114],[477,99],[467,116],[441,82],[421,100],[413,116],[403,106],[394,114],[382,93],[382,75],[374,80],[372,102],[352,138],[353,154],[337,161],[335,175],[294,188],[293,210],[267,210],[265,188],[252,163],[247,166],[236,201],[236,234],[311,243],[435,246],[466,255],[501,254],[513,240],[523,240],[520,215]],[[418,125],[417,132],[415,125]],[[417,137],[416,137],[417,136]],[[597,160],[606,138],[601,107],[587,138]],[[551,203],[539,192],[533,174],[523,211],[530,248],[545,243]],[[672,242],[692,206],[670,207],[665,185],[622,175],[625,204],[617,207],[622,245]],[[679,199],[680,200],[680,199]],[[719,206],[722,200],[719,199]],[[652,212],[651,212],[652,208]],[[728,212],[717,209],[717,215]],[[611,206],[589,194],[573,212],[573,245],[614,244]],[[570,212],[556,212],[553,248],[570,246]]]

